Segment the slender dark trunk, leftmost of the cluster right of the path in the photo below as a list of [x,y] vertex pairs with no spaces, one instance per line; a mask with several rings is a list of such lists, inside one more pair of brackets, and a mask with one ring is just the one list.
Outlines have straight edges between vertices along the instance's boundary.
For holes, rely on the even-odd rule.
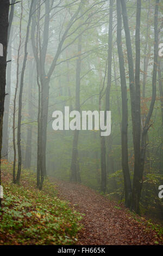
[[120,78],[121,78],[121,96],[122,96],[122,171],[124,177],[124,194],[125,205],[130,207],[131,204],[131,180],[128,166],[128,100],[127,100],[127,86],[126,86],[126,74],[124,69],[124,58],[122,50],[122,16],[121,16],[121,4],[117,0],[117,49],[120,66]]

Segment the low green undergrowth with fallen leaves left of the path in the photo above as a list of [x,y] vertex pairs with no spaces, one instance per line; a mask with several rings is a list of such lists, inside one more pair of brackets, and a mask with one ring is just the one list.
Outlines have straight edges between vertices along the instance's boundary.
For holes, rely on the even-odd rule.
[[21,184],[12,183],[12,164],[2,163],[4,199],[0,210],[0,245],[74,245],[81,215],[57,197],[45,179],[35,186],[32,171],[23,170]]

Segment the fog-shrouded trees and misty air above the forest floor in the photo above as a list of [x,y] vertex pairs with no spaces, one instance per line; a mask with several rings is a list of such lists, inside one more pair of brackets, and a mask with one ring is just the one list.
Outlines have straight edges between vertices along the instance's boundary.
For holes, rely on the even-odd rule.
[[161,222],[162,1],[16,2],[1,152],[13,182],[27,169],[39,189],[82,183]]

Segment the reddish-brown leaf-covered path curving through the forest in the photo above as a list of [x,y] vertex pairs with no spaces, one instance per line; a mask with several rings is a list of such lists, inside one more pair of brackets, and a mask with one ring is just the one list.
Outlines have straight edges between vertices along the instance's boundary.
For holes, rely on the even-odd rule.
[[[58,197],[85,216],[78,245],[154,245],[158,239],[153,230],[145,231],[145,223],[137,222],[124,206],[117,206],[83,184],[51,179]],[[118,208],[117,208],[118,207]],[[139,217],[140,218],[140,217]],[[145,220],[144,220],[145,221]]]

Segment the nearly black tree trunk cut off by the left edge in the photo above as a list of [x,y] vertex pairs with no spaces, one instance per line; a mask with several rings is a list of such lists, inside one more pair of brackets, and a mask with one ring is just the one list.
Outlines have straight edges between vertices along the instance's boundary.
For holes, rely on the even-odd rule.
[[[0,2],[0,186],[1,186],[1,149],[2,149],[2,127],[4,113],[4,98],[6,84],[6,67],[7,67],[7,44],[8,44],[8,26],[9,26],[9,0]],[[0,198],[0,207],[1,207]]]

